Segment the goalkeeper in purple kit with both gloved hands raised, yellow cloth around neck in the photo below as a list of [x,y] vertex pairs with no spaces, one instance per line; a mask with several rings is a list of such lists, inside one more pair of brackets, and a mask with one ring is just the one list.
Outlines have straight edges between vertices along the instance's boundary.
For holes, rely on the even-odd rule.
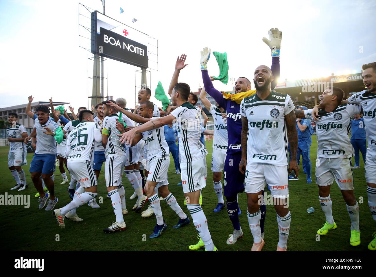
[[[277,84],[279,77],[279,54],[280,43],[282,40],[282,32],[277,28],[269,30],[270,41],[266,38],[262,40],[270,47],[272,55],[271,71],[273,72],[274,81],[271,83],[271,89]],[[204,53],[205,52],[205,53]],[[201,73],[202,80],[206,92],[211,95],[217,103],[227,111],[227,131],[229,134],[229,142],[227,145],[226,161],[224,163],[223,171],[223,191],[226,197],[227,213],[233,225],[233,234],[227,239],[227,244],[234,244],[237,239],[243,237],[243,231],[240,228],[238,215],[238,193],[244,191],[244,175],[240,173],[238,165],[241,160],[241,115],[240,103],[241,100],[249,96],[251,93],[251,82],[245,78],[240,77],[235,81],[235,94],[232,96],[220,92],[214,88],[207,70],[207,62],[210,57],[210,51],[207,48],[203,49],[201,55]],[[254,92],[253,92],[254,93]],[[226,96],[225,96],[226,95]],[[264,221],[266,214],[266,205],[261,205],[261,236],[264,236]]]

